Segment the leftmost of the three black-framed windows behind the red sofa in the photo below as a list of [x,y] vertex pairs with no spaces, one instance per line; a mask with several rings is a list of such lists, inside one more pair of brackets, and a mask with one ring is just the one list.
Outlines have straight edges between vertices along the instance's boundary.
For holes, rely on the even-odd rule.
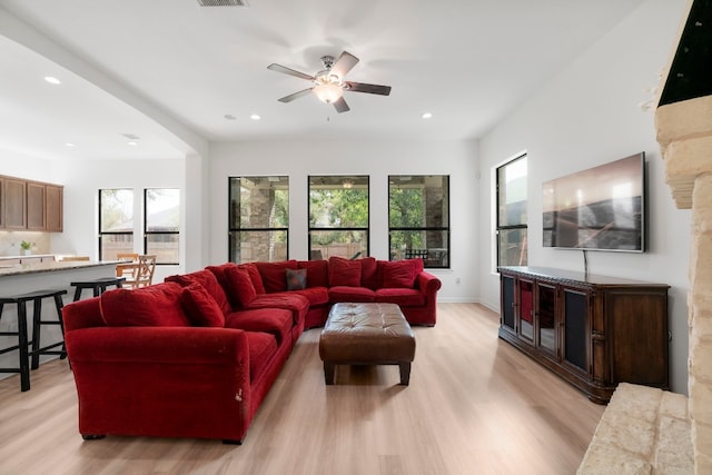
[[230,177],[229,206],[230,261],[288,258],[288,177]]

